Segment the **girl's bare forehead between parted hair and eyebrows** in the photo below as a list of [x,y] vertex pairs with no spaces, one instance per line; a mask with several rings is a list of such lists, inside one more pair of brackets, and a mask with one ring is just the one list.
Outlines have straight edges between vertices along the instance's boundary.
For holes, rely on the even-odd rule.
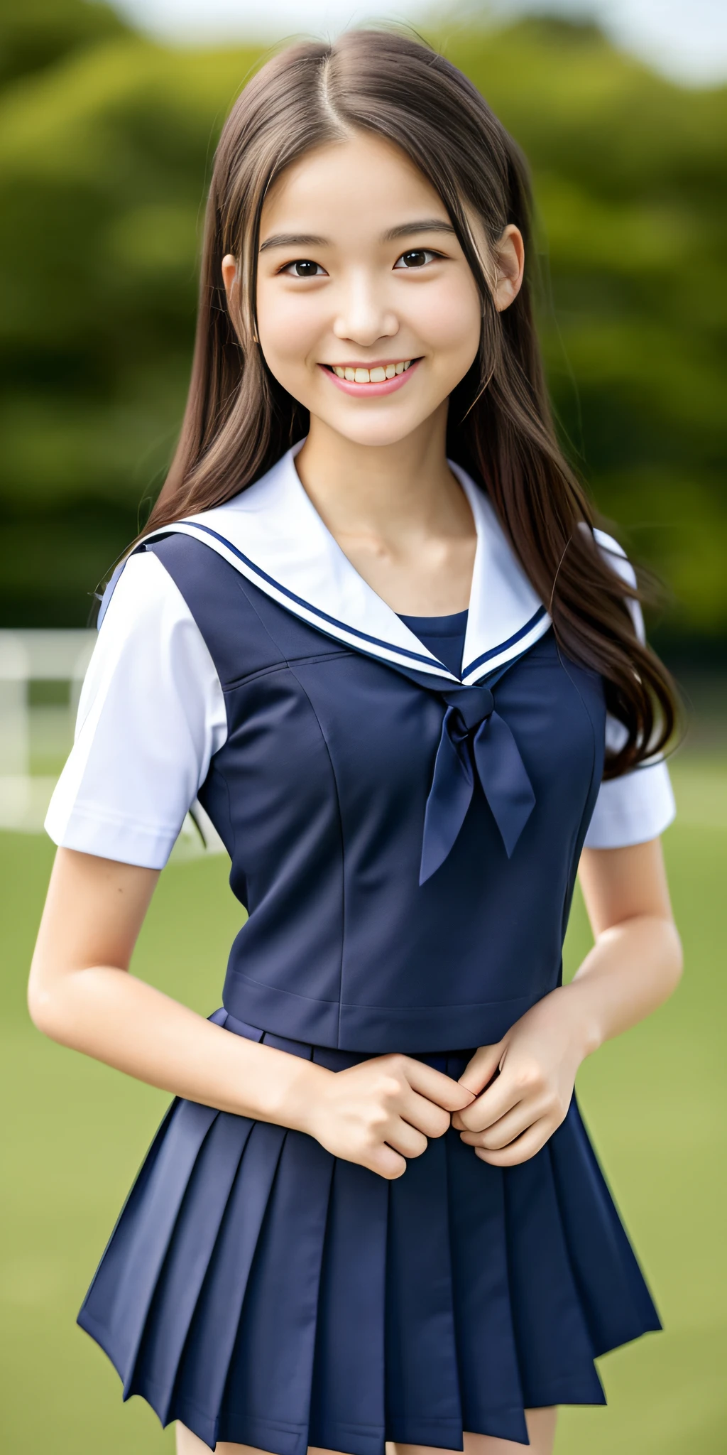
[[285,231],[345,239],[379,236],[407,215],[448,221],[439,194],[394,143],[371,132],[308,151],[276,179],[265,199],[260,242]]

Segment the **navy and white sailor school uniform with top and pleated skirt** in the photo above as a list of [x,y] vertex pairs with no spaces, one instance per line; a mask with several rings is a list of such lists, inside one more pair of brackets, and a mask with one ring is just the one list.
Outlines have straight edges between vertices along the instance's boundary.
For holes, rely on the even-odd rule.
[[[333,1071],[406,1052],[457,1078],[560,984],[583,844],[670,822],[667,770],[602,783],[603,682],[458,466],[470,608],[398,617],[297,448],[116,573],[47,828],[160,869],[199,799],[249,911],[211,1018]],[[659,1328],[574,1099],[519,1167],[449,1131],[393,1183],[177,1099],[79,1323],[163,1423],[275,1455],[526,1443],[525,1408],[603,1403],[595,1356]]]

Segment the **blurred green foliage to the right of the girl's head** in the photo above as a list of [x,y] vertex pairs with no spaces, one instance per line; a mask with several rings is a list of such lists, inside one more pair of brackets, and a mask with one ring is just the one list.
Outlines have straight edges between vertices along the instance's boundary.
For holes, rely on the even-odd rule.
[[[526,151],[541,329],[576,466],[675,594],[664,645],[727,634],[727,89],[685,90],[593,26],[448,47]],[[686,643],[685,643],[686,645]],[[720,646],[721,650],[721,646]]]

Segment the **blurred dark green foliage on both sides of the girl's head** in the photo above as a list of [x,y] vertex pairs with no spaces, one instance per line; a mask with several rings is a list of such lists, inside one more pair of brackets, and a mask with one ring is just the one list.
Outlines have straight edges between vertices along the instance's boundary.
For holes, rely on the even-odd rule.
[[[664,645],[714,655],[727,89],[676,87],[553,20],[442,45],[532,163],[571,457],[673,591]],[[259,52],[164,48],[84,0],[1,0],[0,54],[0,624],[83,626],[173,448],[205,180]]]

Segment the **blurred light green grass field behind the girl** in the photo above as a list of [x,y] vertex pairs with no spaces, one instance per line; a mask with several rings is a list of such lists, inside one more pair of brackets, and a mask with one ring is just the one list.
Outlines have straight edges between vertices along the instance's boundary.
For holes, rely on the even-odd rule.
[[[603,1048],[579,1088],[596,1148],[656,1293],[666,1331],[601,1363],[608,1410],[566,1410],[557,1455],[723,1455],[727,1449],[724,973],[727,764],[680,760],[680,806],[666,835],[686,949],[678,995]],[[52,845],[0,835],[3,1397],[7,1455],[172,1451],[140,1401],[74,1324],[167,1097],[44,1040],[25,979]],[[238,906],[225,861],[172,864],[134,969],[195,1008],[220,1004]],[[589,943],[580,904],[573,968]]]

